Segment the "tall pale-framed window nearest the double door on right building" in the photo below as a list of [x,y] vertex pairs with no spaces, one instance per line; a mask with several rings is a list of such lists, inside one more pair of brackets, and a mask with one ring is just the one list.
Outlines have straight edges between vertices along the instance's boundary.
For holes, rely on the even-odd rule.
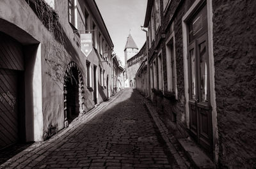
[[167,90],[174,92],[177,98],[177,75],[174,32],[166,41]]

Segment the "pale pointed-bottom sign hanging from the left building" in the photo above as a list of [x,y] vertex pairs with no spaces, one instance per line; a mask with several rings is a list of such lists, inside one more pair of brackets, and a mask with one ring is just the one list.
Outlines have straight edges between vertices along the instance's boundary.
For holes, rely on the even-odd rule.
[[81,34],[81,51],[86,57],[92,52],[92,34]]

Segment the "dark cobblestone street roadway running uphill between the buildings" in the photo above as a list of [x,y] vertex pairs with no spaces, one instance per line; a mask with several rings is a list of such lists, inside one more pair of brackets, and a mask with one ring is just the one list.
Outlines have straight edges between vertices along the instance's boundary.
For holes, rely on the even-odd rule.
[[40,155],[27,154],[27,162],[17,168],[179,168],[143,99],[125,89],[97,117],[81,122],[63,139],[50,140],[51,148],[42,147]]

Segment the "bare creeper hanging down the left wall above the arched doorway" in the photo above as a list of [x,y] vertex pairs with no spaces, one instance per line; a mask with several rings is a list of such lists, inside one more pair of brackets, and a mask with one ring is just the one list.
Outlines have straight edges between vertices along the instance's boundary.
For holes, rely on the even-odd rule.
[[[67,37],[60,24],[59,15],[44,0],[27,0],[27,3],[51,33],[49,43],[45,44],[45,48],[47,48],[47,54],[44,56],[47,64],[46,74],[62,89],[63,77],[68,64],[65,62],[67,61],[65,59],[67,56],[65,52]],[[70,74],[70,77],[72,77],[72,74]]]

